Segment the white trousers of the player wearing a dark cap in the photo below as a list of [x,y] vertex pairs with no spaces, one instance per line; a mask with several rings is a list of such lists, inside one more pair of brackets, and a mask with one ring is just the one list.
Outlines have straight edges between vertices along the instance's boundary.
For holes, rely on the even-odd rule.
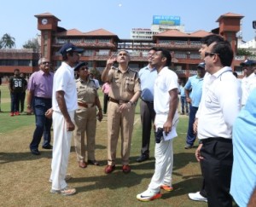
[[[74,123],[74,111],[68,112]],[[53,112],[54,143],[51,161],[51,188],[61,190],[67,187],[65,176],[67,174],[68,156],[70,153],[73,131],[67,131],[67,124],[61,112]]]

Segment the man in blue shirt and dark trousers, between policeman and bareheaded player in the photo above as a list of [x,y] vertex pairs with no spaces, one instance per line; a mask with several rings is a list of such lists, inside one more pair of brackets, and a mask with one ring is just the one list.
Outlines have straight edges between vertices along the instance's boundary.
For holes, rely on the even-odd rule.
[[149,144],[152,124],[154,123],[154,80],[157,76],[156,69],[151,65],[152,57],[155,53],[155,48],[149,49],[148,66],[143,67],[139,71],[141,80],[141,122],[143,128],[143,141],[141,156],[137,158],[137,162],[141,163],[149,158]]

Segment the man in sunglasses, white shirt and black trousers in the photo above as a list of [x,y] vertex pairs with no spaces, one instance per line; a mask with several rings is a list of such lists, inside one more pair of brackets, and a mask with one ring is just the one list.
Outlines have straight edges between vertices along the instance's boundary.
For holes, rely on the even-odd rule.
[[233,163],[232,127],[241,108],[241,88],[230,67],[228,41],[212,43],[205,51],[206,71],[198,118],[201,162],[209,206],[232,206],[230,179]]

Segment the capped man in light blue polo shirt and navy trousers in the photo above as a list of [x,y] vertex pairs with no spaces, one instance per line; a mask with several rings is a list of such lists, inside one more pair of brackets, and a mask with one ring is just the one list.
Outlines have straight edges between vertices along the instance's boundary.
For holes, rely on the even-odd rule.
[[189,128],[186,137],[186,145],[184,147],[185,149],[194,147],[196,133],[194,132],[193,124],[195,122],[195,113],[197,112],[201,101],[201,88],[204,81],[204,76],[205,63],[201,62],[197,66],[197,75],[189,77],[189,80],[184,87],[186,101],[189,103]]

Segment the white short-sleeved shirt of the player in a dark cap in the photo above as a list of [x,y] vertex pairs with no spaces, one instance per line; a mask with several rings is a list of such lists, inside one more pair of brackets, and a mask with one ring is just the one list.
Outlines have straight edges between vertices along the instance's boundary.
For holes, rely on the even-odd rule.
[[76,83],[74,79],[73,67],[62,62],[54,76],[52,108],[56,112],[61,112],[56,100],[56,91],[64,91],[64,99],[66,101],[67,112],[73,112],[78,108],[78,96]]

